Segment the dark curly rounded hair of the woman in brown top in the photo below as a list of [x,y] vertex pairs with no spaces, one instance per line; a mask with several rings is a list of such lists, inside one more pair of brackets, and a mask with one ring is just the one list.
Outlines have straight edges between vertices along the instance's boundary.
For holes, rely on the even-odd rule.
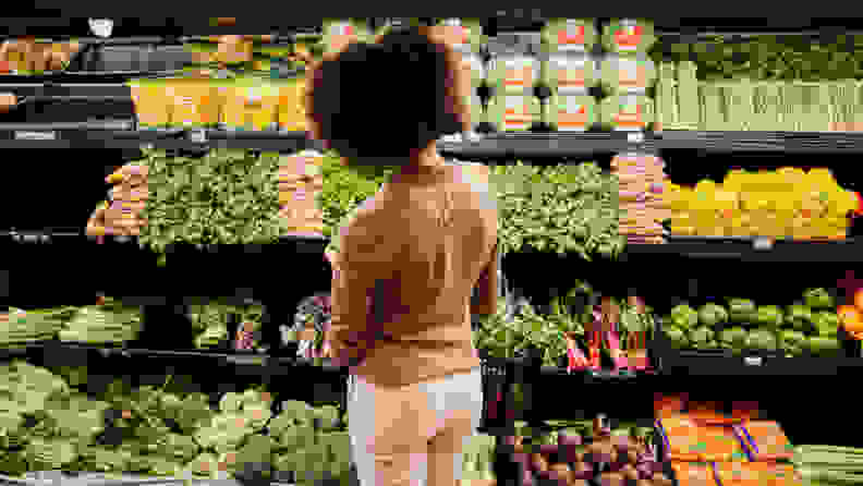
[[462,131],[458,54],[421,28],[351,44],[313,70],[306,112],[318,136],[351,162],[403,165],[432,141]]

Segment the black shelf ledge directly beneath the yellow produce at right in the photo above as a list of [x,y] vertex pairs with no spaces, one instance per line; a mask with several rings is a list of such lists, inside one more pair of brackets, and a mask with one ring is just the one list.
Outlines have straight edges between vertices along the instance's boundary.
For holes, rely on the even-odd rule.
[[680,255],[689,258],[725,258],[741,262],[863,262],[863,243],[855,239],[829,242],[787,242],[768,239],[668,241],[664,244],[628,244],[621,262],[652,255]]

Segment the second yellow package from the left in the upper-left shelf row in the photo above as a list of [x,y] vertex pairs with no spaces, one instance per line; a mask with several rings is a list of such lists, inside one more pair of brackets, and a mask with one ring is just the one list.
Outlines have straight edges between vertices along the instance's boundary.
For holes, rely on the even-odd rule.
[[171,125],[214,126],[219,122],[218,88],[206,78],[172,78],[166,87]]

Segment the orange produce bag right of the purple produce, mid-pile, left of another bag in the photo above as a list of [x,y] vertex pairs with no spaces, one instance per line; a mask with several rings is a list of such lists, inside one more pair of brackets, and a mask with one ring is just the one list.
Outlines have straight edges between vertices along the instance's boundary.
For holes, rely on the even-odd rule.
[[703,425],[693,417],[674,415],[659,420],[666,440],[665,460],[670,461],[745,461],[746,450],[737,436],[736,426]]

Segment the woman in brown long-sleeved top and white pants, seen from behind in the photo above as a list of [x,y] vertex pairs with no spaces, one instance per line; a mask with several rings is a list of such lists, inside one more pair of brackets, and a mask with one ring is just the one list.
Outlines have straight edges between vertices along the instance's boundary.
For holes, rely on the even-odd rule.
[[440,136],[470,126],[470,74],[447,38],[433,27],[393,32],[307,72],[311,134],[349,168],[398,167],[329,255],[328,335],[352,375],[364,486],[455,484],[482,413],[471,313],[496,307],[497,209],[487,182],[436,150]]

